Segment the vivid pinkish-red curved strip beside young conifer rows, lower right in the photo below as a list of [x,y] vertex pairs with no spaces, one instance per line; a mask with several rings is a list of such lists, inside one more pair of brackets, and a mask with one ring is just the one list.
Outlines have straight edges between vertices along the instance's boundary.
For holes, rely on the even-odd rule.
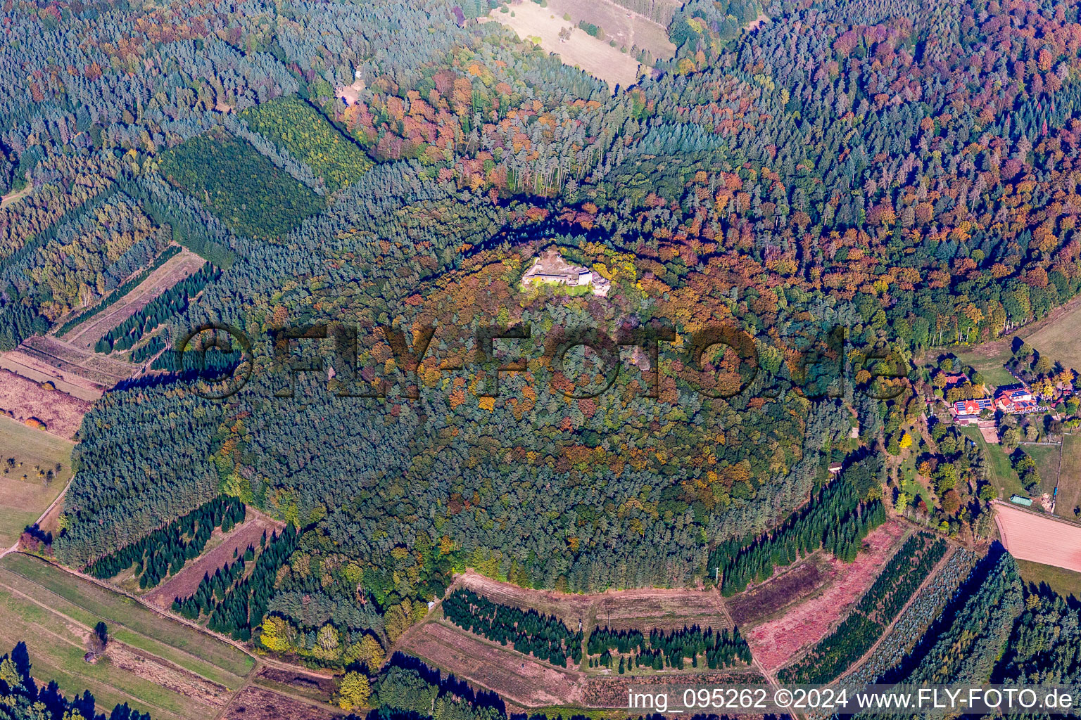
[[904,534],[899,522],[886,522],[864,540],[864,552],[854,562],[830,559],[829,580],[820,592],[789,606],[779,617],[740,628],[755,660],[772,673],[825,638],[871,586]]

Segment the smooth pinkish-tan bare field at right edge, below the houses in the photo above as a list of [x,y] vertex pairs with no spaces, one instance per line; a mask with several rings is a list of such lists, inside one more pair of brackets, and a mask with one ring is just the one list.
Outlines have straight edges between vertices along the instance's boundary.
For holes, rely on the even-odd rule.
[[1081,572],[1081,527],[1009,503],[995,508],[1002,544],[1015,558]]

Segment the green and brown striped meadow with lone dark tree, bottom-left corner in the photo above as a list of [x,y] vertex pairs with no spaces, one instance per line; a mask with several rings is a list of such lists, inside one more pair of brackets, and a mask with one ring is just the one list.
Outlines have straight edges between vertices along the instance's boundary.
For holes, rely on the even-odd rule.
[[[83,660],[91,628],[110,642]],[[35,676],[66,694],[90,690],[98,711],[117,703],[164,720],[215,717],[254,661],[193,628],[26,555],[0,560],[0,647],[25,641]]]

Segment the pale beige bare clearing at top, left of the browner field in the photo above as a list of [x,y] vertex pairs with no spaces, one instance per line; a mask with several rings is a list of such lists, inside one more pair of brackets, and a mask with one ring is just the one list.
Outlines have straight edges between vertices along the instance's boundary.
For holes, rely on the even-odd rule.
[[[616,85],[628,87],[638,81],[639,64],[633,55],[619,52],[618,46],[612,47],[589,36],[575,22],[555,14],[552,8],[523,2],[515,5],[512,12],[513,15],[495,10],[489,14],[489,18],[511,28],[519,38],[539,38],[543,50],[558,55],[564,65],[582,68],[595,78],[600,78],[613,92]],[[559,32],[566,27],[573,29],[570,40],[564,42]]]

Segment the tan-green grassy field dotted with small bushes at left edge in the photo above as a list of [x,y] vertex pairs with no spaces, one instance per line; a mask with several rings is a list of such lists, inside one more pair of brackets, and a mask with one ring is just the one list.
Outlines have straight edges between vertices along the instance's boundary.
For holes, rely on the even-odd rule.
[[[72,447],[69,440],[0,417],[0,547],[11,547],[67,485]],[[54,477],[46,485],[39,473],[48,471]]]

